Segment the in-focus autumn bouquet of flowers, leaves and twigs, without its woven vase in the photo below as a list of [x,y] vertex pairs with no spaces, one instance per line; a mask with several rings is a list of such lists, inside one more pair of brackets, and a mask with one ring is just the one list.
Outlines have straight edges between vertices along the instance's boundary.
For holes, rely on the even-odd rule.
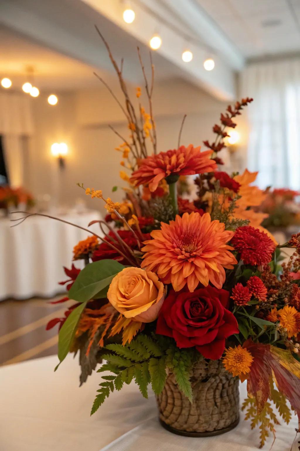
[[[116,150],[125,199],[114,202],[100,189],[78,184],[104,202],[107,217],[93,221],[102,236],[94,233],[74,248],[73,259],[85,260],[85,268],[65,268],[68,279],[61,283],[68,294],[58,302],[76,304],[48,324],[59,324],[58,358],[61,363],[68,352],[79,351],[81,383],[106,360],[98,370],[105,373],[92,414],[133,379],[144,397],[149,384],[158,396],[170,374],[193,403],[193,366],[220,359],[224,371],[247,380],[242,408],[251,428],[259,425],[263,446],[278,424],[270,400],[287,423],[287,400],[300,415],[300,235],[278,246],[261,226],[266,215],[254,209],[266,198],[252,185],[257,173],[218,170],[226,129],[235,127],[233,118],[252,99],[221,114],[215,141],[204,141],[208,150],[181,145],[181,127],[177,147],[157,153],[153,64],[149,83],[138,50],[145,88],[137,88],[135,106],[123,63],[118,66],[99,34],[125,97],[123,107],[112,93],[129,129],[129,138],[113,129],[122,141]],[[178,197],[179,177],[196,174],[197,200]],[[295,253],[278,276],[282,247]]]

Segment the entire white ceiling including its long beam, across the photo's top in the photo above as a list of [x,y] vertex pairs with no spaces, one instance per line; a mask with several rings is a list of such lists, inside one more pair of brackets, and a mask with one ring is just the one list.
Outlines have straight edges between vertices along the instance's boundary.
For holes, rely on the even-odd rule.
[[[0,77],[21,86],[31,65],[44,90],[94,86],[99,81],[93,70],[114,83],[94,23],[116,60],[125,58],[123,75],[130,82],[142,78],[135,47],[146,61],[149,37],[158,30],[163,45],[153,52],[156,79],[186,78],[223,100],[234,97],[234,72],[245,60],[300,52],[300,0],[131,0],[136,11],[131,25],[122,21],[123,5],[121,0],[0,0]],[[184,46],[194,52],[188,64],[181,60]],[[216,66],[207,73],[203,59],[210,49]]]

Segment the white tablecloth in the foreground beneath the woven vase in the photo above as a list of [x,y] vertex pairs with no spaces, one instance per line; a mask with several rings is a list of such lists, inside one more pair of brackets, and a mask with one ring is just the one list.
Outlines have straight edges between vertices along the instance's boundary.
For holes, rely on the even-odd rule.
[[[167,432],[158,423],[152,392],[145,400],[134,383],[112,393],[90,417],[100,374],[79,388],[77,358],[68,355],[54,373],[57,362],[52,356],[0,368],[1,451],[257,451],[258,431],[251,431],[243,414],[235,429],[216,437]],[[243,384],[242,399],[245,391]],[[293,417],[288,426],[276,427],[272,451],[290,451],[297,424]]]

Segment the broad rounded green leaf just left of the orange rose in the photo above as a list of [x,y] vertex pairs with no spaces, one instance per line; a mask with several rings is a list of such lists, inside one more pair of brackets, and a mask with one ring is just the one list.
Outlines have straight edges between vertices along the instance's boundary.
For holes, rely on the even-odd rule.
[[116,260],[100,260],[90,263],[78,274],[70,291],[69,298],[78,302],[105,297],[112,279],[124,266]]

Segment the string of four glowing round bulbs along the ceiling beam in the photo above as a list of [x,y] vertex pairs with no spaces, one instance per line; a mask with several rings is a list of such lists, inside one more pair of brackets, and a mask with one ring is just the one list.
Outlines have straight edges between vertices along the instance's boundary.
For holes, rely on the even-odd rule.
[[[175,27],[173,24],[168,22],[166,19],[158,17],[156,14],[154,14],[150,8],[148,8],[142,4],[140,4],[140,6],[143,7],[144,9],[147,9],[147,12],[149,14],[155,15],[157,20],[159,20],[160,22],[163,22],[168,28],[173,29],[176,33],[180,32],[180,30],[178,30],[177,27]],[[135,12],[130,5],[127,5],[127,7],[125,7],[125,9],[123,10],[124,22],[125,23],[133,23],[134,19],[135,19]],[[182,31],[180,32],[180,34],[182,34]],[[191,39],[191,37],[186,37],[185,40],[191,41],[192,39]],[[161,47],[161,45],[162,45],[161,36],[158,33],[153,34],[153,36],[149,40],[149,46],[152,48],[152,50],[158,50]],[[197,42],[196,45],[199,46],[199,42]],[[201,46],[204,46],[204,45],[201,44]],[[209,53],[212,53],[212,51],[210,50]],[[185,63],[189,63],[190,61],[193,60],[193,52],[189,48],[186,48],[182,52],[181,57]],[[204,66],[204,69],[206,69],[206,70],[213,70],[215,67],[214,59],[211,56],[209,58],[206,58],[203,61],[203,66]]]

